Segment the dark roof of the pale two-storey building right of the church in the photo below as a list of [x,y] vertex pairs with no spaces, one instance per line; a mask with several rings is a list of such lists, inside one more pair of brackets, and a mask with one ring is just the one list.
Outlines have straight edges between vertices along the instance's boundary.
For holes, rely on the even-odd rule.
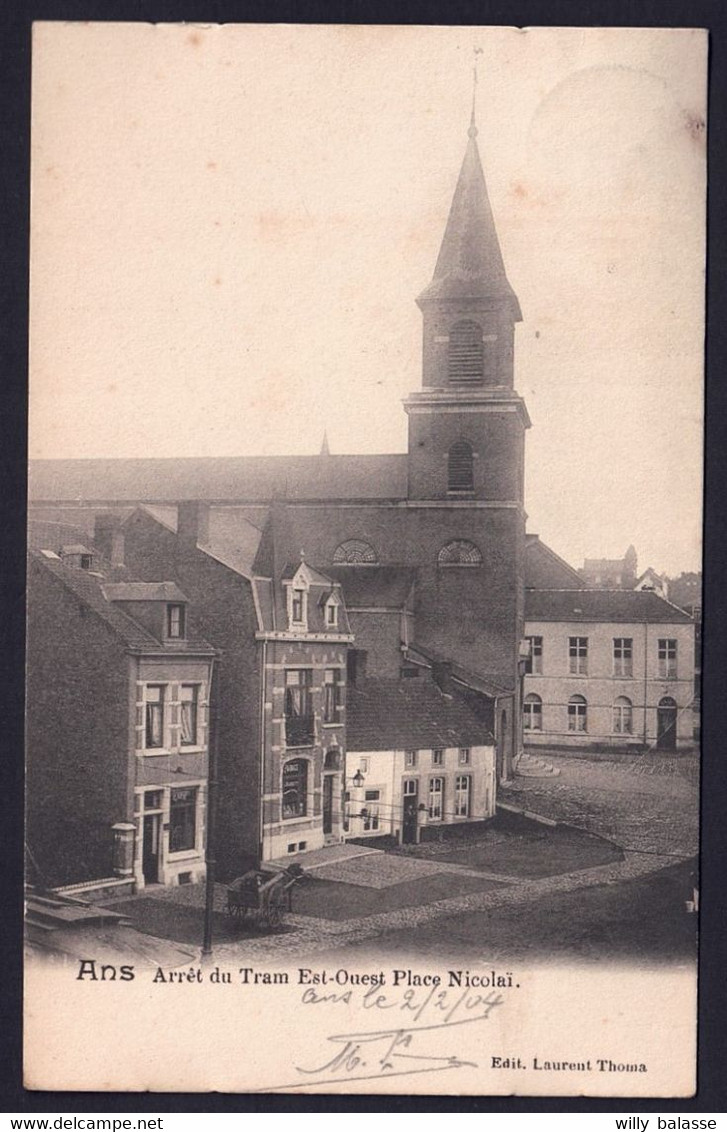
[[527,621],[649,621],[692,618],[650,590],[528,590]]

